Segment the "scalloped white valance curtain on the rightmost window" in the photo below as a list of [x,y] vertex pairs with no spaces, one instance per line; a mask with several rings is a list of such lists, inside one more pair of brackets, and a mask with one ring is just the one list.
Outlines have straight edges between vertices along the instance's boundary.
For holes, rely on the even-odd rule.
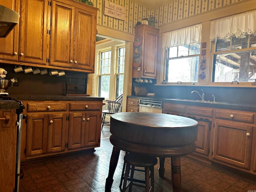
[[256,10],[212,20],[210,22],[210,41],[217,38],[236,37],[256,31]]

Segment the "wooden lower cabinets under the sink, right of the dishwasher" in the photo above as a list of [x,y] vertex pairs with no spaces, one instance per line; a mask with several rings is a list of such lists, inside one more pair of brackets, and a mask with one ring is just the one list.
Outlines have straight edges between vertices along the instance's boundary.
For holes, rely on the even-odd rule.
[[198,121],[196,151],[192,157],[206,157],[212,162],[256,175],[254,112],[164,103],[163,113]]

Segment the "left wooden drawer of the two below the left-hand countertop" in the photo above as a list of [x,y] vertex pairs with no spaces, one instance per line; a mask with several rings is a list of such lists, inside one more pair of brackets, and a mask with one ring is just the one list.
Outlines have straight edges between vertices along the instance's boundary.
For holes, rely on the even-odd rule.
[[27,105],[28,112],[34,111],[66,111],[67,104],[66,103],[58,103],[58,102],[28,102]]

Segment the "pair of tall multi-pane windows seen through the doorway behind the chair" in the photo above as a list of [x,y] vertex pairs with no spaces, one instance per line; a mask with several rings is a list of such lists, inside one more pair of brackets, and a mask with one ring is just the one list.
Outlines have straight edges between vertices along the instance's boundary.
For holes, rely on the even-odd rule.
[[125,46],[98,50],[98,96],[114,100],[123,93]]

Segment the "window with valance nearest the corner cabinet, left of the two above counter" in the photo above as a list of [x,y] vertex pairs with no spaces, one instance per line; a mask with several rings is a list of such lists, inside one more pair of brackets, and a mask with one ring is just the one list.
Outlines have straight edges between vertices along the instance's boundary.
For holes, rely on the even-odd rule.
[[168,83],[198,82],[201,24],[163,34]]

